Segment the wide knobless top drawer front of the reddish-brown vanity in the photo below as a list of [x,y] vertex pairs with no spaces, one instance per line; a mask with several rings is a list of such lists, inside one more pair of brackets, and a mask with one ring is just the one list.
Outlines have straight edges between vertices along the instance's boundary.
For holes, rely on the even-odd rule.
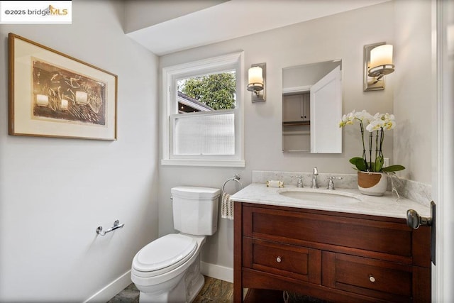
[[253,238],[320,249],[338,246],[346,250],[369,250],[397,255],[411,263],[411,228],[397,221],[243,206],[243,233]]

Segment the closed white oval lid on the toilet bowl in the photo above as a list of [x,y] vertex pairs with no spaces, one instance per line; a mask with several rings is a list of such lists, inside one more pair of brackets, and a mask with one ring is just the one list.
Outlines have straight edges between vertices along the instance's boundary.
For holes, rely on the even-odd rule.
[[139,250],[133,260],[133,268],[151,272],[179,265],[189,258],[197,248],[194,238],[179,233],[170,233]]

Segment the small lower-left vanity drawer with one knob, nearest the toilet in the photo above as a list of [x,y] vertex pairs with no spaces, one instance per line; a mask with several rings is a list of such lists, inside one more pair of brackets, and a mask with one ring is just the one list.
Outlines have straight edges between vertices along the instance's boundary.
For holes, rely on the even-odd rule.
[[321,284],[321,250],[243,238],[243,267]]

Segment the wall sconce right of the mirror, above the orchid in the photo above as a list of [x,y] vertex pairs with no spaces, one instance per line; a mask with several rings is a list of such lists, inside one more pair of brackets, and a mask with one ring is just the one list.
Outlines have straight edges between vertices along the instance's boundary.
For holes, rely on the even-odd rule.
[[384,75],[394,72],[392,45],[384,42],[364,46],[364,91],[384,89]]

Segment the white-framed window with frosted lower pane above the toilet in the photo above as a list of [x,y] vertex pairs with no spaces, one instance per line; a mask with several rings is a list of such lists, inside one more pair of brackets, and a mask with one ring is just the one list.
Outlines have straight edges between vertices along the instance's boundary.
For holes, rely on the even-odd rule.
[[165,67],[162,100],[162,165],[245,166],[242,52]]

